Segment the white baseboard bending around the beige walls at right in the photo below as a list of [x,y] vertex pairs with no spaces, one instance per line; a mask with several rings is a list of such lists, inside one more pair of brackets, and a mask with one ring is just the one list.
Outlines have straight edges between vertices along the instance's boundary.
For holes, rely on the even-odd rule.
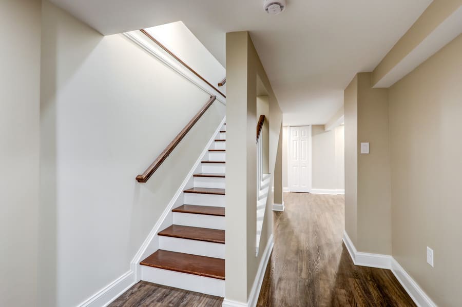
[[436,307],[424,290],[392,256],[358,252],[346,231],[343,232],[343,243],[355,265],[391,270],[418,307]]

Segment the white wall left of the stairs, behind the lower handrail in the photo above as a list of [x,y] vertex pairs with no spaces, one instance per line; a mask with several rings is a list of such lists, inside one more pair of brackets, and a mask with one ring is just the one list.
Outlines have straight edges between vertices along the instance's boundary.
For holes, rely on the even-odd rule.
[[225,107],[214,103],[138,183],[209,96],[123,35],[43,5],[41,289],[44,305],[74,306],[130,269]]

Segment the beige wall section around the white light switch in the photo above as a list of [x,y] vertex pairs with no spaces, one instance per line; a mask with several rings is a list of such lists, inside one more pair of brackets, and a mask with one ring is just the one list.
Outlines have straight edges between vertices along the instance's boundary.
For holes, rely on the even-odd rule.
[[[388,117],[388,89],[373,89],[371,73],[359,73],[356,248],[386,255],[391,254]],[[361,142],[369,142],[369,154],[360,154]]]

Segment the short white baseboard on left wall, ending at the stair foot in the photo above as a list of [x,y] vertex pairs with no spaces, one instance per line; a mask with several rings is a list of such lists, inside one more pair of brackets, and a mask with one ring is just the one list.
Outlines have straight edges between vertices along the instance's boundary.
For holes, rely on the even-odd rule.
[[130,270],[79,304],[78,307],[106,307],[136,282],[134,272]]

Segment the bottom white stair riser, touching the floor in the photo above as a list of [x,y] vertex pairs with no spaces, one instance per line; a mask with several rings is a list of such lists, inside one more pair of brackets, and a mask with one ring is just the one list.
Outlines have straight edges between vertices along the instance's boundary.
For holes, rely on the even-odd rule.
[[215,296],[225,296],[225,281],[141,265],[141,280]]

